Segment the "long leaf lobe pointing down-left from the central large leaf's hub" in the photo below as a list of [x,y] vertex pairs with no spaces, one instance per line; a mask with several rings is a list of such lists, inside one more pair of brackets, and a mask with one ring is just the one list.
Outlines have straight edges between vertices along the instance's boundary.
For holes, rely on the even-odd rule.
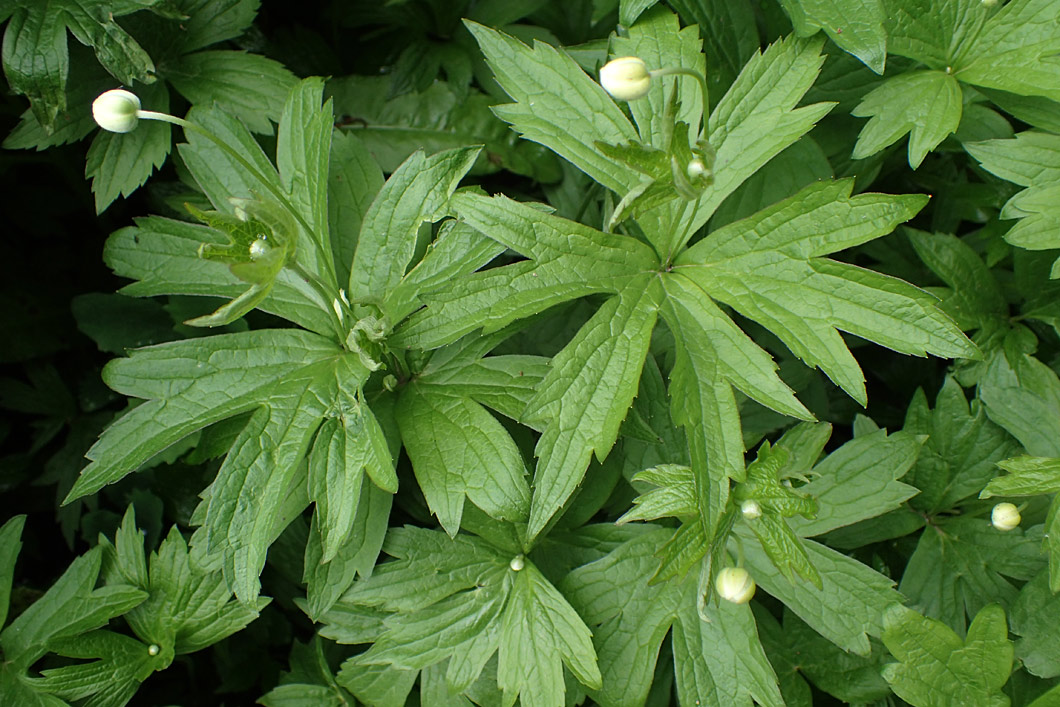
[[534,448],[527,528],[536,536],[582,480],[590,455],[607,456],[637,392],[660,291],[648,276],[610,299],[555,355],[525,413],[545,425]]

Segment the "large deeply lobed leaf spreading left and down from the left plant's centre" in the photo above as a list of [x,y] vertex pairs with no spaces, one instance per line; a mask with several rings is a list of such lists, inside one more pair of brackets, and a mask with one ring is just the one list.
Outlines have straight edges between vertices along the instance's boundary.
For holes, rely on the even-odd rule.
[[[285,501],[317,428],[325,419],[337,420],[347,445],[372,435],[366,431],[372,413],[359,391],[368,373],[355,354],[295,330],[138,350],[111,361],[104,378],[116,390],[147,402],[114,422],[89,450],[92,463],[69,498],[117,481],[207,425],[253,412],[206,495],[204,527],[196,537],[204,552],[224,560],[225,578],[236,596],[252,601],[265,550],[289,520],[283,514]],[[363,461],[346,473],[366,469],[382,488],[396,488],[389,458],[369,455]],[[346,531],[336,532],[342,536]]]

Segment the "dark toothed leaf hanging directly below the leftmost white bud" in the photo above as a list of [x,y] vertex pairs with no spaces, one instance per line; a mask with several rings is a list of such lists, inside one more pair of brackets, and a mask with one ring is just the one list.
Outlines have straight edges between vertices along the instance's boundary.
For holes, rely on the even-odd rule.
[[[161,86],[145,86],[140,99],[152,110],[170,109],[170,95]],[[92,179],[96,213],[103,213],[119,194],[127,197],[162,166],[172,144],[170,129],[169,123],[141,121],[131,132],[96,134],[85,164],[85,176]]]

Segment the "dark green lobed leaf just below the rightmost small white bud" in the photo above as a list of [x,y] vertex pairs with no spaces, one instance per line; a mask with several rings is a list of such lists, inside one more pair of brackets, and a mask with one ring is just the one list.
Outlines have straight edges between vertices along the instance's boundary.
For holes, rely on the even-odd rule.
[[936,518],[921,534],[899,590],[925,616],[964,633],[966,614],[1015,601],[1005,577],[1028,580],[1043,564],[1038,540],[1021,530],[1002,532],[982,518]]

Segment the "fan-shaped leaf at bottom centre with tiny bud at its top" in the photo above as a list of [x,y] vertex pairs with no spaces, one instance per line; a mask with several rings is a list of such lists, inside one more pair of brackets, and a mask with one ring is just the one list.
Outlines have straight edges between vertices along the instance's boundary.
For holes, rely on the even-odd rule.
[[[563,704],[564,665],[600,687],[588,629],[529,560],[475,536],[410,527],[392,529],[384,551],[396,561],[379,565],[323,618],[348,626],[323,630],[340,642],[374,641],[352,659],[361,670],[417,671],[448,658],[445,679],[459,693],[497,653],[507,703]],[[350,630],[357,625],[368,630]]]

